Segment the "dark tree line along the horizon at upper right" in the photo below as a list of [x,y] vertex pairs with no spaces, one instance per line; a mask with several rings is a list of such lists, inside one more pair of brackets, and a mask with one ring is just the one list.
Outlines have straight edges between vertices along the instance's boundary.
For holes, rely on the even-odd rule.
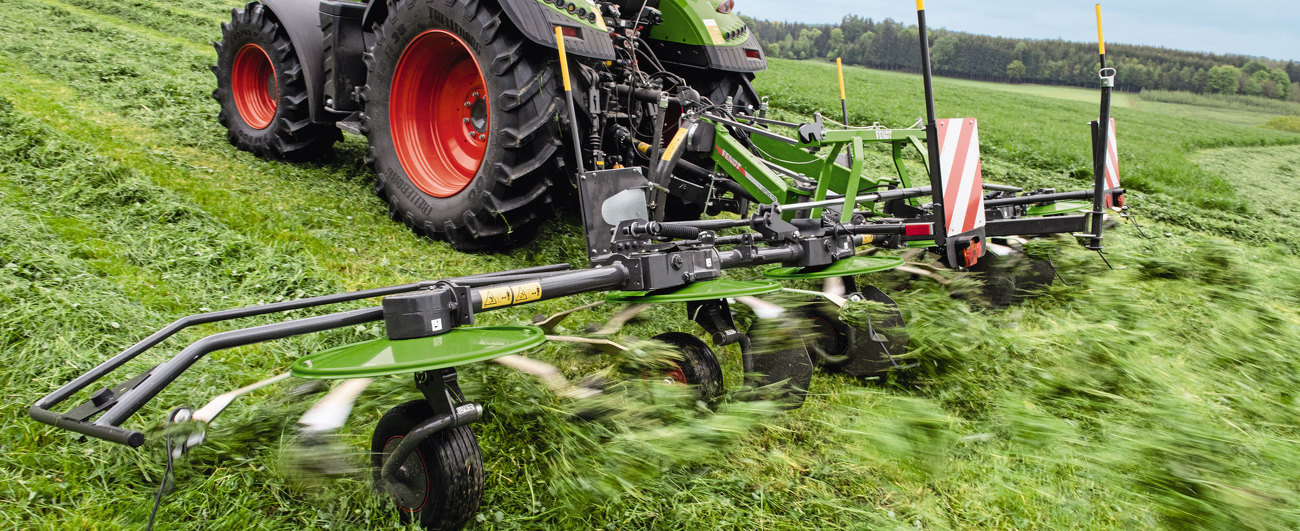
[[[840,23],[776,22],[748,18],[772,57],[835,59],[888,70],[920,72],[915,25],[890,18],[846,16]],[[1017,83],[1097,86],[1097,46],[1061,39],[1010,39],[936,29],[930,31],[936,74]],[[1300,102],[1300,64],[1243,55],[1187,52],[1152,46],[1106,44],[1115,86],[1197,94],[1245,94]]]

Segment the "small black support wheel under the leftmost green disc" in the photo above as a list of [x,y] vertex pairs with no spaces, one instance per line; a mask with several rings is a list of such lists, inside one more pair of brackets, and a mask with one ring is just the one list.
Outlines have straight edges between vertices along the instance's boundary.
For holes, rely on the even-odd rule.
[[430,435],[411,453],[393,482],[380,478],[389,454],[416,424],[432,416],[429,403],[415,400],[380,418],[370,439],[374,483],[396,502],[402,522],[416,521],[429,530],[459,530],[478,511],[484,493],[484,458],[468,426]]

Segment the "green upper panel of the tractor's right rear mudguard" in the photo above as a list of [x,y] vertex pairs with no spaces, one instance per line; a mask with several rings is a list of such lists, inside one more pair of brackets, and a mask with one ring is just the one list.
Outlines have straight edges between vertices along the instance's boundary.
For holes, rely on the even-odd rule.
[[[693,46],[738,46],[749,39],[745,21],[736,13],[719,13],[723,0],[662,0],[663,23],[650,29],[650,38]],[[733,34],[727,39],[727,34]]]

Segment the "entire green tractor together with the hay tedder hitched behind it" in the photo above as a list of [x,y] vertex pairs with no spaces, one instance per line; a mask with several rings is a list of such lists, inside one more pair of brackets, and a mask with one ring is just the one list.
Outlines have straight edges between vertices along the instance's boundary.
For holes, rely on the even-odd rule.
[[[905,363],[897,306],[858,285],[863,275],[904,266],[889,250],[923,249],[965,269],[1044,234],[1101,249],[1102,212],[1123,208],[1124,193],[1104,47],[1095,182],[1026,191],[983,182],[975,120],[936,118],[922,3],[927,116],[900,129],[829,126],[822,115],[798,124],[768,117],[750,86],[766,68],[763,51],[731,10],[732,0],[265,0],[235,9],[216,46],[213,96],[237,147],[304,160],[329,150],[341,128],[359,131],[394,220],[460,250],[491,250],[526,242],[556,207],[575,208],[588,267],[187,316],[42,398],[31,416],[139,446],[144,433],[124,423],[204,355],[382,321],[385,337],[302,357],[285,375],[177,410],[169,422],[211,422],[234,397],[290,376],[347,380],[335,392],[350,403],[369,379],[413,374],[424,400],[381,418],[374,478],[404,518],[455,528],[477,511],[484,482],[469,428],[484,410],[460,392],[456,367],[497,361],[554,379],[554,368],[520,353],[575,340],[549,334],[566,314],[476,325],[486,312],[590,292],[608,292],[608,303],[685,303],[712,347],[740,346],[746,385],[780,389],[797,406],[818,361],[857,376]],[[840,87],[842,100],[842,75]],[[906,169],[913,150],[923,176]],[[881,151],[896,172],[871,176],[866,160]],[[776,267],[764,281],[724,279],[725,269],[759,266]],[[810,280],[822,290],[783,285]],[[858,328],[835,311],[783,312],[758,298],[779,290],[818,298],[819,307],[858,299],[892,312]],[[134,377],[95,387],[187,327],[376,297],[380,306],[216,333]],[[760,337],[738,329],[737,302],[763,319],[811,323],[815,345],[760,347]],[[696,385],[702,398],[719,396],[722,371],[707,344],[680,332],[656,338],[680,357],[668,377]],[[618,347],[608,336],[585,340]],[[79,393],[79,403],[56,411]],[[177,452],[200,441],[191,436]]]

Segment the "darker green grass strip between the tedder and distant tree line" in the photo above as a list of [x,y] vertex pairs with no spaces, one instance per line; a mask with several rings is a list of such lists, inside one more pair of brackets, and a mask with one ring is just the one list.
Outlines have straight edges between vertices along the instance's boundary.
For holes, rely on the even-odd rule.
[[[759,92],[771,95],[774,105],[805,115],[838,107],[833,65],[786,60],[774,60],[772,64],[783,75],[760,77],[757,87]],[[850,121],[855,125],[879,121],[907,126],[924,115],[919,75],[848,68],[845,82],[855,94],[849,108]],[[1005,174],[992,168],[987,173],[992,173],[993,178],[1050,181],[1067,187],[1078,187],[1091,180],[1086,122],[1096,120],[1097,104],[1056,98],[1009,98],[1002,90],[980,88],[966,82],[945,85],[942,79],[936,85],[935,103],[941,117],[979,117],[982,152],[1014,164]],[[1249,207],[1236,194],[1231,181],[1205,173],[1186,154],[1218,147],[1297,143],[1295,137],[1279,131],[1216,125],[1141,109],[1115,107],[1113,116],[1121,138],[1119,165],[1124,185],[1197,208],[1248,213]]]

